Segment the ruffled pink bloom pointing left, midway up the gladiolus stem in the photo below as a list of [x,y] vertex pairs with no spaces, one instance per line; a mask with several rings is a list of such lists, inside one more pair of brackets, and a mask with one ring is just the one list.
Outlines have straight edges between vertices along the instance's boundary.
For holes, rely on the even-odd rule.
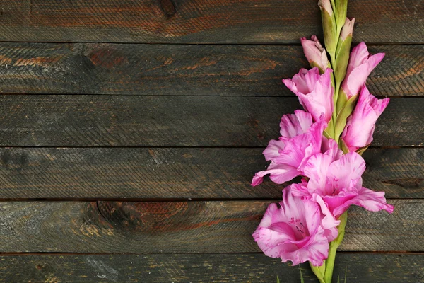
[[[277,184],[282,184],[302,175],[303,168],[310,156],[321,151],[322,132],[324,132],[326,126],[326,122],[320,119],[303,134],[293,137],[292,134],[295,134],[293,132],[286,137],[281,137],[278,141],[269,141],[264,156],[266,160],[271,160],[271,164],[266,171],[259,171],[254,175],[252,185],[261,184],[267,174],[270,174],[269,178]],[[283,127],[281,128],[283,129]]]

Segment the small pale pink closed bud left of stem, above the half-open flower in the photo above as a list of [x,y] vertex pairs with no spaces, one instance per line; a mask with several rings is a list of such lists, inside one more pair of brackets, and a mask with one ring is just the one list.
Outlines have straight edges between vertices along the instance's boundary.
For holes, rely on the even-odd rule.
[[302,37],[300,42],[302,42],[307,61],[310,62],[312,67],[318,67],[319,71],[323,73],[328,67],[329,59],[327,59],[326,51],[319,43],[318,38],[315,35],[312,35],[311,40]]

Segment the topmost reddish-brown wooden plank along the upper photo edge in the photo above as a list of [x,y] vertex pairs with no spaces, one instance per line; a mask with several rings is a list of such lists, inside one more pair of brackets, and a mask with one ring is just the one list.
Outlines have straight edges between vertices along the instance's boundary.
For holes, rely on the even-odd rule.
[[[0,40],[293,43],[320,34],[317,1],[4,0]],[[423,42],[424,4],[351,1],[355,41]]]

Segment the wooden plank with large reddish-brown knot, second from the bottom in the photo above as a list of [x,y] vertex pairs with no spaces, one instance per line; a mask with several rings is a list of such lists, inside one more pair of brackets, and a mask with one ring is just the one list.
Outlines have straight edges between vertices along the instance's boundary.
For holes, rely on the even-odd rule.
[[[341,250],[423,251],[424,200],[353,207]],[[1,202],[1,252],[248,253],[269,202]],[[411,241],[413,239],[413,241]]]

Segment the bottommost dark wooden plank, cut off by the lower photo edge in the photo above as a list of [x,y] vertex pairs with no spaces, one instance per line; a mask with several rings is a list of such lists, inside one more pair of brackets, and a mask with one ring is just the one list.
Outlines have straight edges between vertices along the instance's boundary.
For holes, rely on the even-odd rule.
[[[424,255],[338,253],[334,270],[347,282],[417,283]],[[302,264],[307,283],[317,282]],[[11,255],[0,258],[0,282],[299,282],[298,267],[254,254],[201,255]],[[50,280],[50,281],[49,281]],[[336,282],[336,281],[335,281]],[[342,281],[343,282],[343,281]]]

